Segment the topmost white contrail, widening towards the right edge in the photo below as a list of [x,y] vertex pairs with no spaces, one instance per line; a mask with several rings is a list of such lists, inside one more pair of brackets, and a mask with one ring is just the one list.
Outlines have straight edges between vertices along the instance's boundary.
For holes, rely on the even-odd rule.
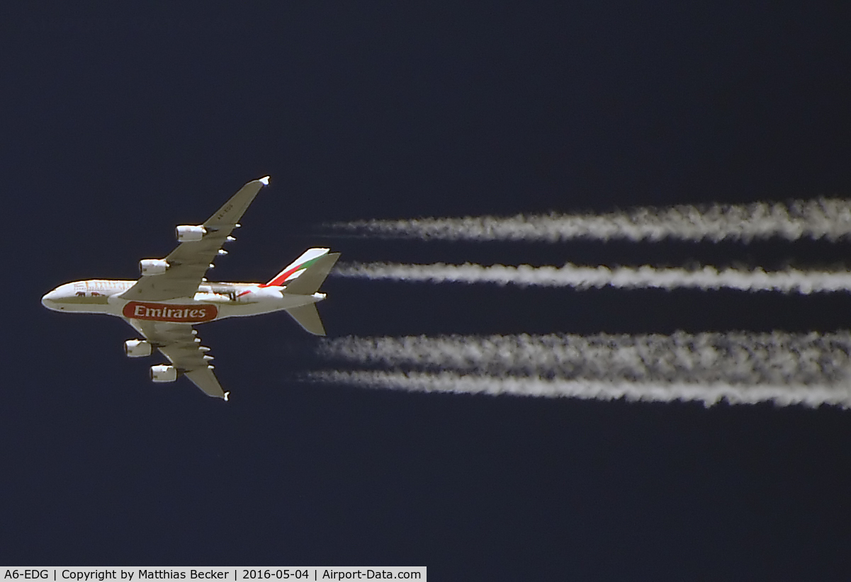
[[710,204],[633,208],[608,214],[517,214],[410,220],[355,220],[325,225],[375,237],[471,241],[558,242],[576,238],[608,241],[686,241],[802,237],[837,241],[851,235],[851,201],[838,198],[791,203]]

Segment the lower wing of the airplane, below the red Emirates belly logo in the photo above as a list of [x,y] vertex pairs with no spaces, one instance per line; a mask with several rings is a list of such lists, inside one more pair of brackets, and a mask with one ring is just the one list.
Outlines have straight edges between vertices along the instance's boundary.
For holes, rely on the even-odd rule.
[[228,392],[221,389],[213,370],[208,368],[209,360],[204,358],[207,348],[202,348],[196,341],[197,332],[191,325],[141,319],[128,319],[127,322],[144,335],[151,345],[157,346],[174,368],[183,372],[207,396],[227,400]]

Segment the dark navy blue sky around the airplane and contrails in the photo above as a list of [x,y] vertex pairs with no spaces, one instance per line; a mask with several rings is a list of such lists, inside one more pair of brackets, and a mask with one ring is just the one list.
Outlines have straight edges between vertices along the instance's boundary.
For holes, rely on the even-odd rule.
[[[776,267],[745,246],[323,238],[328,220],[848,197],[839,3],[4,8],[0,562],[415,564],[434,579],[844,579],[851,414],[306,385],[284,314],[199,329],[232,402],[151,385],[115,318],[39,304],[134,278],[271,174],[210,278],[343,260]],[[329,334],[830,331],[847,294],[329,279]]]

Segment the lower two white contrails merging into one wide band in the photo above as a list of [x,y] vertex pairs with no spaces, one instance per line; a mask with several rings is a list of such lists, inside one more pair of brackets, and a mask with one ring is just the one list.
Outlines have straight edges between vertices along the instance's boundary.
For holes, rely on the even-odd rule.
[[711,405],[851,407],[851,334],[491,335],[331,339],[306,379],[407,391]]

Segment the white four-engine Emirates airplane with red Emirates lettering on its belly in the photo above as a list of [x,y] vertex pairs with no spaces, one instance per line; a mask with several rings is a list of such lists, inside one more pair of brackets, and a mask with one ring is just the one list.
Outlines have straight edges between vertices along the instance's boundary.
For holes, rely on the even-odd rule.
[[319,293],[340,253],[309,248],[269,282],[209,282],[204,275],[216,256],[227,254],[225,242],[236,240],[248,205],[269,176],[244,185],[201,225],[180,225],[180,244],[165,259],[140,260],[138,281],[90,279],[60,285],[42,298],[53,311],[106,313],[121,317],[144,339],[128,339],[128,357],[150,356],[156,348],[170,364],[151,366],[151,380],[174,382],[186,376],[209,397],[228,400],[210,365],[209,348],[201,345],[193,324],[227,317],[287,311],[307,332],[325,335],[316,304]]

